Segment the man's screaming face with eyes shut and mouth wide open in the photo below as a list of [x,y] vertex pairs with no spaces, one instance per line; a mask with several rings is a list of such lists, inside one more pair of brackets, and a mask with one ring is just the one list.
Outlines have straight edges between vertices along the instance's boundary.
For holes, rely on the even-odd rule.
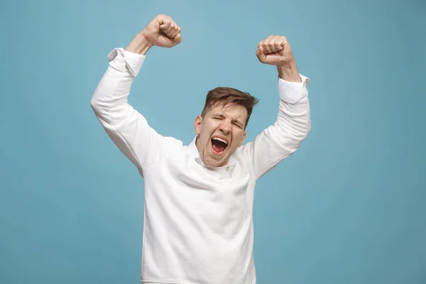
[[246,138],[247,110],[238,104],[217,104],[195,119],[197,149],[205,165],[220,167]]

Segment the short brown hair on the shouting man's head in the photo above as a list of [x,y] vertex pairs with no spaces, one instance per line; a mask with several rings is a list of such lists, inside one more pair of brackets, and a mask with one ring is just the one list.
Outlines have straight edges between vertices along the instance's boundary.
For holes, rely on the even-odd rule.
[[247,110],[247,124],[249,124],[249,119],[253,111],[253,107],[259,102],[256,97],[253,97],[248,92],[242,92],[239,89],[234,89],[230,87],[217,87],[215,89],[209,90],[206,96],[206,102],[204,104],[204,109],[202,109],[201,116],[204,117],[209,109],[216,104],[222,104],[224,107],[227,104],[238,104],[243,106]]

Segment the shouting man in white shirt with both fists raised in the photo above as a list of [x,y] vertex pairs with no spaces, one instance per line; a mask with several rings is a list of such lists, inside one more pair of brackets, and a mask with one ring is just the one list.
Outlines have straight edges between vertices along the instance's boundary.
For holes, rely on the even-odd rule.
[[310,131],[307,77],[299,74],[284,36],[258,44],[256,55],[278,69],[278,119],[243,146],[257,99],[213,89],[184,146],[161,136],[128,101],[133,79],[153,46],[182,41],[172,18],[156,16],[109,68],[92,109],[116,146],[136,165],[145,185],[141,283],[253,284],[253,194],[256,180],[296,151]]

